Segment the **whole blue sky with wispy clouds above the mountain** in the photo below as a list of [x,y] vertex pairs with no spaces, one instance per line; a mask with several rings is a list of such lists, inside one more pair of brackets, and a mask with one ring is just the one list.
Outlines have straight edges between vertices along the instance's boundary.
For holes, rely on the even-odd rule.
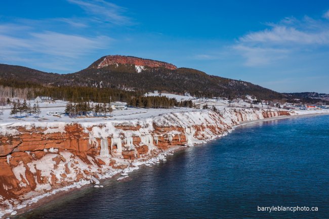
[[47,72],[119,54],[329,93],[329,1],[3,1],[0,51]]

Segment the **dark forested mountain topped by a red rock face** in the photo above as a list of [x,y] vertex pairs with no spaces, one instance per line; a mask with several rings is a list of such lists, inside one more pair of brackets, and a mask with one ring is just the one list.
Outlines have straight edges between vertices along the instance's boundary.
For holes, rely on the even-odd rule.
[[251,95],[267,100],[286,97],[250,82],[208,75],[190,68],[177,68],[166,62],[119,55],[104,56],[86,69],[69,74],[0,64],[0,78],[2,81],[11,79],[54,87],[108,87],[143,93],[154,90],[177,94],[188,92],[197,97]]

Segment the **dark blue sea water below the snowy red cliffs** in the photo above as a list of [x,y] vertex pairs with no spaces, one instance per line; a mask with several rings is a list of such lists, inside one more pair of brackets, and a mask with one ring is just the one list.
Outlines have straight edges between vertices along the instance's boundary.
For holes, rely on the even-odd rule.
[[[329,218],[329,116],[248,124],[19,218]],[[318,211],[259,212],[257,206]]]

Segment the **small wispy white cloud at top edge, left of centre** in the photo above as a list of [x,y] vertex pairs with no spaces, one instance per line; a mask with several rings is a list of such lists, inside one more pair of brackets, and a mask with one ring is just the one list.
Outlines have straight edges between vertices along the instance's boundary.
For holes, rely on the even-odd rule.
[[67,0],[84,9],[88,14],[94,16],[99,22],[109,22],[113,24],[131,24],[129,17],[125,16],[126,9],[104,0]]

